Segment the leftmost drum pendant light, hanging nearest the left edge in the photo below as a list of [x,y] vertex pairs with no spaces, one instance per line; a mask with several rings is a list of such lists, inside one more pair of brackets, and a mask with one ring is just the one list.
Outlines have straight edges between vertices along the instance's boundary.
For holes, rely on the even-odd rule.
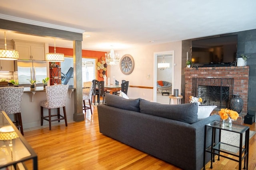
[[18,60],[19,52],[13,49],[6,49],[6,35],[4,32],[5,49],[0,49],[0,60]]

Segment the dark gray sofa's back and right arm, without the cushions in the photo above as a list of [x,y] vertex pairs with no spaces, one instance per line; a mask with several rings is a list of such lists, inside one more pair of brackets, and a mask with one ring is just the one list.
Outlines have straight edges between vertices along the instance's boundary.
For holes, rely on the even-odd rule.
[[[106,102],[111,104],[112,99],[115,102],[116,99],[122,101],[118,107],[131,100],[110,96]],[[190,124],[113,105],[102,104],[97,107],[100,133],[185,170],[200,170],[203,167],[204,127],[219,119],[218,115],[212,115]],[[211,129],[208,129],[208,133],[211,134]],[[207,146],[210,146],[210,137],[208,135]],[[210,154],[207,154],[206,160],[210,160]]]

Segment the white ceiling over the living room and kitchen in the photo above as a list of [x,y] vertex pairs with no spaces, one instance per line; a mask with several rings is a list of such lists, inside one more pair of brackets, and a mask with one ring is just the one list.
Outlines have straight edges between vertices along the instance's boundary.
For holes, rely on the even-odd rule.
[[[84,30],[82,49],[110,51],[256,29],[255,6],[256,0],[0,0],[0,18]],[[54,46],[52,38],[11,32],[6,39]],[[73,43],[56,39],[56,47]]]

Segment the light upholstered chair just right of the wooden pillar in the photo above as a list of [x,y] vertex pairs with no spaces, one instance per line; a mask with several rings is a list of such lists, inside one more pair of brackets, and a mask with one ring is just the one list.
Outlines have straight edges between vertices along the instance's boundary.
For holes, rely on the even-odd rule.
[[[91,114],[92,114],[92,105],[91,105],[91,101],[90,101],[90,95],[91,95],[91,92],[92,92],[92,82],[84,82],[83,83],[83,110],[85,111],[86,113],[86,109],[90,109],[91,111]],[[89,106],[86,106],[85,104],[85,101],[88,100],[89,102]]]

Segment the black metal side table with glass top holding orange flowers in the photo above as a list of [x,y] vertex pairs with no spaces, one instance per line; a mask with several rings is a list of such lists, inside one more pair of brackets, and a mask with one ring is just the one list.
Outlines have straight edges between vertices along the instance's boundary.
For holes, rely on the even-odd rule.
[[[210,147],[206,148],[206,139],[207,139],[207,128],[210,127],[212,128],[212,143]],[[212,168],[212,162],[214,162],[214,156],[218,155],[218,160],[220,160],[220,156],[224,158],[228,158],[230,160],[234,160],[236,162],[239,162],[239,170],[241,170],[242,167],[242,160],[244,159],[244,169],[246,168],[248,170],[248,154],[249,154],[249,127],[248,126],[243,126],[243,125],[237,125],[237,124],[232,124],[232,127],[222,127],[222,121],[213,121],[211,123],[208,123],[204,127],[204,170],[205,170],[205,160],[206,160],[206,152],[209,152],[211,154],[211,167]],[[219,140],[216,141],[215,139],[215,134],[216,130],[219,130]],[[227,143],[222,143],[220,142],[221,138],[221,131],[230,131],[234,133],[238,133],[240,135],[240,143],[239,146],[234,146],[230,145]],[[242,146],[242,138],[243,138],[243,133],[245,132],[245,143],[244,147]],[[224,147],[226,148],[228,146],[230,149],[239,149],[238,153],[234,154],[233,152],[228,151],[228,149],[223,149]],[[238,159],[230,158],[228,156],[223,155],[222,153],[229,154],[232,156],[236,156]]]

